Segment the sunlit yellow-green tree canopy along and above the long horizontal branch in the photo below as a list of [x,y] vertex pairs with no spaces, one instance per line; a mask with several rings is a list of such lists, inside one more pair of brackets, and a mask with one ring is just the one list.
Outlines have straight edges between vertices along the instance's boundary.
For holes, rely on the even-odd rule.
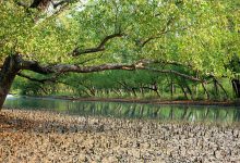
[[147,68],[192,76],[169,71],[177,65],[200,80],[238,78],[239,7],[238,0],[1,0],[0,62],[17,53],[20,70],[41,74]]

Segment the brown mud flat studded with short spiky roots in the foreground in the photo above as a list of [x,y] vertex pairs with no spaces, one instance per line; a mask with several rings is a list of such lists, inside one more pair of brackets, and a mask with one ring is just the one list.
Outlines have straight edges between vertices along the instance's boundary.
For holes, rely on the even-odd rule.
[[0,112],[0,162],[240,162],[240,124]]

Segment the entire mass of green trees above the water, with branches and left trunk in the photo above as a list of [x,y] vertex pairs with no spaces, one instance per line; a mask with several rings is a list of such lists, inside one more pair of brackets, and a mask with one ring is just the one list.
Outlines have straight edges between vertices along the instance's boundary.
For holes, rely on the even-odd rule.
[[[24,95],[239,98],[239,8],[238,0],[0,1],[0,105],[16,75],[13,91]],[[75,74],[93,72],[101,73]]]

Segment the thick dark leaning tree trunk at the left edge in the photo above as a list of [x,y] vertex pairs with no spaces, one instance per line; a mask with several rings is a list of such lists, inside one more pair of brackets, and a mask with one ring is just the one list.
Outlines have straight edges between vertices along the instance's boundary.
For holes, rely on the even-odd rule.
[[0,71],[0,110],[5,101],[12,83],[20,71],[19,68],[19,55],[9,55],[5,58],[3,66]]

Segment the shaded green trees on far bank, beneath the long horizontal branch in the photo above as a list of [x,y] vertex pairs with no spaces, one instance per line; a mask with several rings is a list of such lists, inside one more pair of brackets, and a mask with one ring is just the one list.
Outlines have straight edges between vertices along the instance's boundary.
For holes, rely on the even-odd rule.
[[227,100],[235,95],[229,79],[213,80],[207,84],[191,82],[175,75],[135,72],[104,72],[95,74],[68,74],[58,83],[41,84],[17,77],[13,93],[27,96],[70,96],[100,98],[137,98],[161,100]]

